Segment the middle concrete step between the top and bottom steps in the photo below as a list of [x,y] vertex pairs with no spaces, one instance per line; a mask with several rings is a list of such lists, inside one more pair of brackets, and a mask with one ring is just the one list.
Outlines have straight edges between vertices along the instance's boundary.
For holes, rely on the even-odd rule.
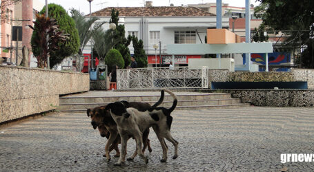
[[[144,101],[150,105],[154,105],[156,101]],[[59,110],[63,109],[88,109],[107,105],[107,103],[60,103]],[[202,105],[233,105],[239,104],[241,100],[239,98],[227,98],[227,99],[214,99],[214,100],[178,100],[177,107],[183,106],[202,106]],[[161,107],[170,107],[173,105],[173,100],[166,100],[161,103]]]

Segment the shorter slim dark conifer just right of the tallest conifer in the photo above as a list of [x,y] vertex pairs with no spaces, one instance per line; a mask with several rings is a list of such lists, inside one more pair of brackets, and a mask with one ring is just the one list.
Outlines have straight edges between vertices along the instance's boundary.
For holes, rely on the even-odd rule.
[[133,36],[132,39],[133,47],[134,47],[134,58],[137,61],[137,67],[147,67],[148,61],[147,56],[145,54],[143,41],[137,39],[137,36]]

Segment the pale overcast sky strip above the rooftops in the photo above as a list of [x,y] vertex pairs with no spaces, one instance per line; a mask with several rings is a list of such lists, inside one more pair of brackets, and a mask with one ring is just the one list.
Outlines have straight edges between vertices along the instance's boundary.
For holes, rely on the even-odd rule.
[[[45,5],[45,0],[39,0]],[[144,0],[93,0],[92,12],[101,10],[106,7],[142,7],[144,6]],[[150,0],[153,1],[153,6],[169,6],[173,3],[175,6],[181,6],[184,4],[197,4],[197,3],[215,3],[216,0]],[[90,5],[87,0],[48,0],[48,3],[57,3],[63,6],[64,9],[69,10],[75,8],[88,14],[90,12]],[[245,7],[245,0],[222,0],[222,3],[228,3],[229,6]],[[251,4],[258,6],[258,2],[251,0]]]

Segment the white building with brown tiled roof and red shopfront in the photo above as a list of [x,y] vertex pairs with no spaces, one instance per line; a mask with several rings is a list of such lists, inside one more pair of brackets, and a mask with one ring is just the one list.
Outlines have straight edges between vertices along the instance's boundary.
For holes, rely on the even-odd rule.
[[[99,22],[107,21],[103,27],[109,28],[112,8],[104,8],[92,13],[92,17],[99,17]],[[146,2],[146,7],[117,7],[119,24],[125,25],[126,36],[135,34],[144,41],[144,50],[148,55],[149,66],[155,63],[168,64],[170,54],[166,54],[166,45],[174,43],[205,43],[206,30],[216,28],[216,16],[195,7],[165,6],[153,7]],[[229,18],[222,17],[222,27],[229,27]],[[161,60],[159,62],[159,48],[157,59],[153,45],[161,43]],[[130,45],[133,54],[133,45]],[[84,54],[90,54],[90,47],[86,46]],[[175,54],[175,65],[187,65],[188,58],[201,58],[199,55]]]

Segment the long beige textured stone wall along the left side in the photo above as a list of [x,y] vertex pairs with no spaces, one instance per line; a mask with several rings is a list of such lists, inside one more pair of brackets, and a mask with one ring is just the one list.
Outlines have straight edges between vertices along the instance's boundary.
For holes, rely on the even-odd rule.
[[59,95],[87,92],[88,74],[0,65],[0,123],[56,109]]

